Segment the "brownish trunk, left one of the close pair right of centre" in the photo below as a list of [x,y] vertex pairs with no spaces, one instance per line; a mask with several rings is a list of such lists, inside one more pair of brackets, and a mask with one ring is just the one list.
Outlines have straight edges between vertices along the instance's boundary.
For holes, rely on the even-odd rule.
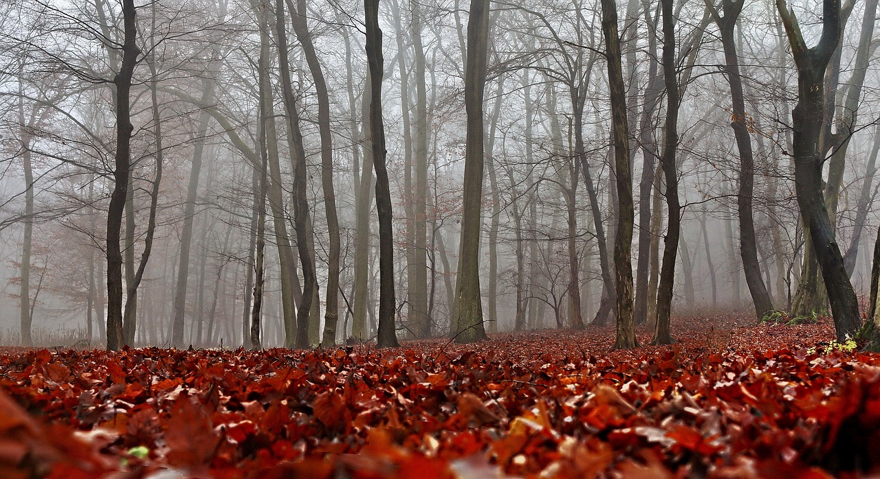
[[620,36],[617,30],[617,4],[602,0],[602,31],[605,34],[608,84],[611,90],[614,144],[614,177],[617,184],[617,231],[614,234],[614,276],[617,316],[617,337],[614,349],[632,349],[635,340],[633,318],[633,178],[629,166],[629,132],[627,128],[627,97],[623,87],[620,64]]

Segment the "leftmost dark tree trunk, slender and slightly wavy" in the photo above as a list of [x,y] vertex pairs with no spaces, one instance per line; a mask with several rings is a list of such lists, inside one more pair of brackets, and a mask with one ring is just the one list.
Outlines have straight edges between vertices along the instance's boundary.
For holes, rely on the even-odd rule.
[[114,76],[116,87],[116,153],[114,156],[114,191],[107,207],[107,351],[116,351],[124,344],[122,336],[122,252],[120,248],[122,214],[131,162],[131,78],[135,73],[137,25],[134,0],[122,0],[123,42],[122,62]]

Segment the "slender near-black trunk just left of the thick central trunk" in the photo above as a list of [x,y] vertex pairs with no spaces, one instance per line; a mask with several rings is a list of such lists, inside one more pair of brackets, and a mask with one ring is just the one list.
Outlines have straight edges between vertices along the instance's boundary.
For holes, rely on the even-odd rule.
[[382,31],[378,25],[379,0],[363,0],[370,65],[370,130],[373,167],[376,171],[376,209],[379,217],[379,318],[378,347],[397,346],[394,330],[394,231],[391,190],[385,169],[385,126],[382,124]]

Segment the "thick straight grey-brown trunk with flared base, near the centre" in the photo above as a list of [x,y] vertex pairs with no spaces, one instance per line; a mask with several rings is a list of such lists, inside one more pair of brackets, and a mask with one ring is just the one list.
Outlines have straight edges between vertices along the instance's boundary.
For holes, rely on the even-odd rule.
[[483,193],[483,95],[486,86],[488,31],[489,1],[471,0],[465,62],[465,191],[451,330],[458,343],[473,343],[486,338],[480,298],[480,205]]

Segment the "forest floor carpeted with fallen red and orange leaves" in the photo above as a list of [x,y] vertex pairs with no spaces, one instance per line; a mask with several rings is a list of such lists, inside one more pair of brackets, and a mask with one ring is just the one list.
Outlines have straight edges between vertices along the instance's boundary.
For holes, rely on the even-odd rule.
[[[0,476],[828,477],[880,473],[880,355],[830,320],[686,316],[323,351],[0,350]],[[639,341],[650,340],[647,330]]]

